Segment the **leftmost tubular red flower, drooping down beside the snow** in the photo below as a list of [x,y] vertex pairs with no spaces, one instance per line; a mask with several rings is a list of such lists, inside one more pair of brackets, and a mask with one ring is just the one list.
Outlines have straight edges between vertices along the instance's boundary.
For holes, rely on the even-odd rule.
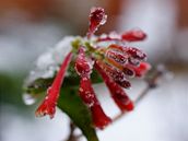
[[56,113],[56,104],[57,104],[57,101],[59,97],[60,87],[63,82],[66,70],[71,61],[71,58],[72,58],[72,52],[69,52],[67,55],[67,57],[64,58],[64,60],[60,67],[60,70],[57,73],[51,86],[48,87],[47,95],[46,95],[44,102],[37,108],[37,110],[35,113],[36,116],[40,117],[40,116],[49,115],[50,118],[54,117],[54,115]]

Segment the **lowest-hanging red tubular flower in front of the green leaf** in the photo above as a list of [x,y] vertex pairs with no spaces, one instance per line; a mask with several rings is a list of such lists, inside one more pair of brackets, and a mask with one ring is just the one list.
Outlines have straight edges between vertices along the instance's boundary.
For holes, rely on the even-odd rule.
[[106,127],[111,119],[103,111],[89,78],[81,78],[79,93],[83,102],[91,108],[94,125],[99,129]]

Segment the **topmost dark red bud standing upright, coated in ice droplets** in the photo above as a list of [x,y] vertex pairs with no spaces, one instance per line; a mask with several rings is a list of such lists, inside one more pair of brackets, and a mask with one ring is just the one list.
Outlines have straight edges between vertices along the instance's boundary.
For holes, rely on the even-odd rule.
[[99,25],[105,24],[107,15],[102,8],[92,8],[90,13],[90,27],[87,32],[87,37],[90,38],[99,27]]

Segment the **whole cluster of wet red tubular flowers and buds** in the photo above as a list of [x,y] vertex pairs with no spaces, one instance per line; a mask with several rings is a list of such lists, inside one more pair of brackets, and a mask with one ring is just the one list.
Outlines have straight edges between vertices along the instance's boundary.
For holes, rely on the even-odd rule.
[[74,63],[80,77],[79,95],[87,105],[95,127],[103,129],[111,119],[104,113],[91,83],[95,69],[103,78],[114,102],[121,111],[133,109],[133,103],[124,89],[129,89],[130,78],[143,77],[150,69],[145,62],[146,55],[140,49],[126,46],[127,42],[140,42],[146,35],[141,30],[128,31],[121,35],[110,33],[95,36],[99,25],[106,22],[107,15],[102,8],[93,8],[90,14],[90,27],[86,37],[72,39],[72,48],[64,57],[52,84],[47,90],[44,102],[36,110],[36,116],[54,117],[60,89],[70,62]]

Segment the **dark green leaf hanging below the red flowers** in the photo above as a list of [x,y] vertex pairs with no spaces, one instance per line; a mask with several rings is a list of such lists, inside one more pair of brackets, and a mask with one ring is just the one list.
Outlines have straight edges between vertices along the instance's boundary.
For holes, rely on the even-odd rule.
[[78,87],[62,87],[58,107],[72,119],[89,141],[98,141],[91,113],[78,92]]

